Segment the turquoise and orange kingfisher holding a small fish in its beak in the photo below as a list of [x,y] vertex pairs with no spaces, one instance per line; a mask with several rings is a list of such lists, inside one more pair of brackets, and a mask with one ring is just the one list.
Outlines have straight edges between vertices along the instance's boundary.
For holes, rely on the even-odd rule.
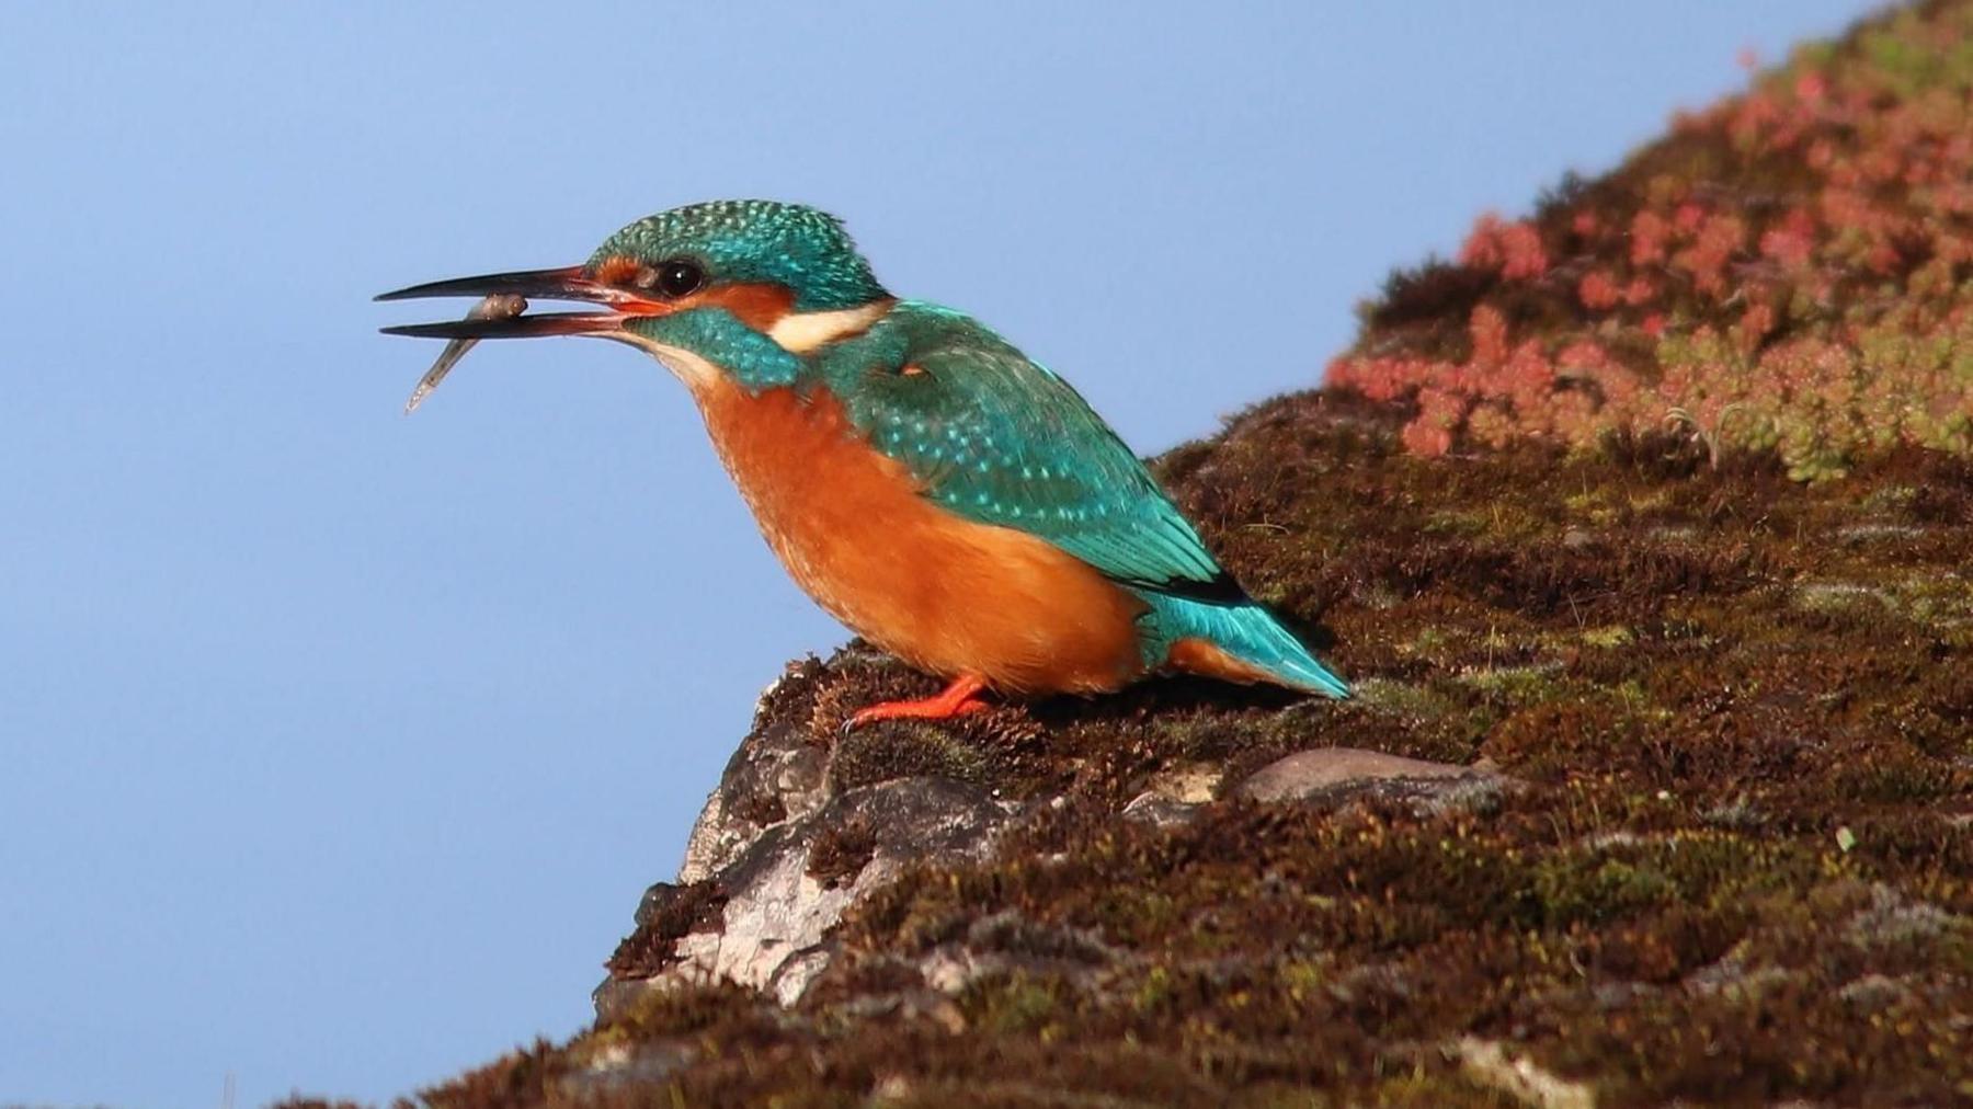
[[[576,266],[377,300],[426,296],[485,300],[383,332],[452,339],[454,357],[477,339],[592,335],[685,385],[795,582],[949,683],[864,706],[852,728],[975,712],[985,693],[1113,693],[1160,671],[1350,697],[1067,381],[961,312],[888,292],[833,215],[694,203],[623,227]],[[537,298],[596,310],[529,314]]]

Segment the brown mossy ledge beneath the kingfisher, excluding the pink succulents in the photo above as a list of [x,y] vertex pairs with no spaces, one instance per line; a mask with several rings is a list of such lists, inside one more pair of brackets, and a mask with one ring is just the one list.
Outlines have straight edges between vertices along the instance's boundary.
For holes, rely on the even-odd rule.
[[[1916,97],[1965,118],[1969,10],[1888,14],[1805,47],[1756,93],[1870,89],[1845,111]],[[1736,105],[1695,118],[1740,120]],[[1632,166],[1663,178],[1701,124]],[[1754,182],[1736,176],[1740,148],[1707,150],[1677,172],[1697,174],[1685,184],[1711,215],[1740,219],[1734,189]],[[1788,158],[1762,160],[1774,172],[1754,184],[1791,187]],[[1626,182],[1574,185],[1569,203],[1655,195]],[[1902,203],[1910,189],[1876,195]],[[1791,211],[1770,201],[1760,211]],[[1567,205],[1545,211],[1535,239],[1490,227],[1466,264],[1393,284],[1352,357],[1438,373],[1472,357],[1486,304],[1509,322],[1580,324],[1594,266],[1557,284],[1543,243],[1559,237],[1616,251],[1616,268],[1659,264]],[[1770,255],[1809,264],[1833,243],[1831,264],[1890,266],[1886,280],[1817,288],[1833,312],[1857,304],[1870,328],[1894,328],[1884,306],[1904,294],[1902,255],[1870,255],[1866,239],[1784,235]],[[1778,272],[1734,268],[1730,251],[1669,264],[1687,278]],[[1967,288],[1965,259],[1920,268],[1928,304]],[[1600,284],[1590,292],[1604,302]],[[1669,314],[1724,333],[1730,320],[1705,316],[1718,304],[1709,286]],[[1610,349],[1644,328],[1649,304],[1638,308],[1592,322]],[[1910,314],[1926,333],[1943,316]],[[1547,397],[1529,395],[1529,410]],[[1868,428],[1878,401],[1845,408],[1843,426]],[[1835,403],[1817,401],[1815,426],[1835,426]],[[1460,420],[1472,405],[1496,401],[1470,401]],[[795,663],[764,699],[718,817],[799,847],[785,882],[842,912],[817,945],[827,957],[779,991],[665,979],[728,908],[718,876],[738,849],[714,843],[689,862],[693,880],[647,898],[612,961],[606,1020],[420,1101],[1973,1101],[1963,444],[1857,434],[1841,458],[1817,454],[1827,438],[1790,454],[1774,436],[1695,434],[1695,412],[1594,436],[1474,436],[1464,422],[1423,436],[1428,408],[1411,385],[1377,401],[1280,397],[1160,460],[1225,564],[1324,647],[1357,699],[1158,681],[844,740],[848,708],[935,683],[854,645]],[[746,762],[769,742],[775,774]],[[1282,756],[1328,746],[1492,774],[1428,803],[1395,787],[1288,803],[1241,791]],[[917,862],[888,854],[890,809],[872,805],[929,791],[994,835]]]

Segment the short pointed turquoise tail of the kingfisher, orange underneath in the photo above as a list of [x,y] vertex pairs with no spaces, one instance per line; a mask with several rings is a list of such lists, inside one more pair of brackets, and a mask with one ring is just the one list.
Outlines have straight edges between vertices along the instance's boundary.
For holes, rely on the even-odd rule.
[[1150,604],[1156,628],[1156,663],[1231,681],[1271,681],[1326,697],[1350,697],[1350,683],[1330,673],[1253,600],[1211,604],[1166,594],[1140,596]]

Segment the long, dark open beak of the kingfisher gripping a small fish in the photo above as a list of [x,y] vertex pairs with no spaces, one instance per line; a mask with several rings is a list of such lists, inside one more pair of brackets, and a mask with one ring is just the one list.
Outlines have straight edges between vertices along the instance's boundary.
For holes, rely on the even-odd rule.
[[[418,339],[533,339],[537,335],[610,335],[623,330],[623,320],[663,316],[671,306],[645,300],[629,290],[602,284],[582,266],[558,270],[515,270],[470,278],[434,280],[377,296],[377,300],[418,300],[426,296],[481,296],[509,304],[511,310],[474,312],[466,320],[444,324],[401,324],[383,328],[385,335]],[[495,300],[497,298],[497,300]],[[527,316],[527,300],[586,300],[610,306],[608,312],[545,312]]]

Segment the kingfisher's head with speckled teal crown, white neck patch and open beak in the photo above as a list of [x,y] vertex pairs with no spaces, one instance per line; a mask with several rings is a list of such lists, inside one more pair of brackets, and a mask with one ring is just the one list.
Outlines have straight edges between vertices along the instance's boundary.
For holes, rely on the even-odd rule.
[[833,215],[797,203],[710,201],[623,227],[578,266],[440,280],[377,300],[505,296],[578,300],[596,312],[475,312],[393,335],[517,339],[594,335],[653,353],[689,385],[720,375],[785,385],[799,355],[866,330],[892,296]]

